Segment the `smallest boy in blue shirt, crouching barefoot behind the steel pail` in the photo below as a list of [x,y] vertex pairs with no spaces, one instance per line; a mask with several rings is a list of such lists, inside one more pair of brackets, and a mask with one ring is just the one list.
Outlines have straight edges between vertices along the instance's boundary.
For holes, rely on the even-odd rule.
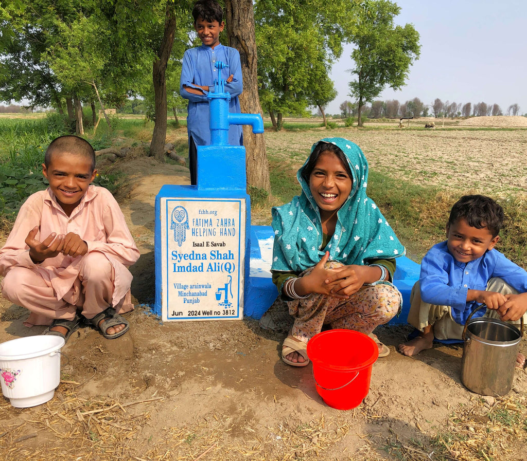
[[[447,240],[434,245],[421,262],[414,285],[408,323],[419,335],[399,345],[416,355],[430,349],[434,338],[461,339],[474,308],[474,317],[519,323],[527,311],[527,272],[494,249],[503,225],[503,208],[492,198],[465,195],[450,212]],[[516,366],[525,365],[519,353]]]

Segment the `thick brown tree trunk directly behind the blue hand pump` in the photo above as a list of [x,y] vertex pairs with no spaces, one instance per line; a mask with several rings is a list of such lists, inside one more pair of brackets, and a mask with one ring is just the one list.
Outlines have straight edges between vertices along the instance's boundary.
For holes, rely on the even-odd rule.
[[[229,45],[240,52],[243,76],[243,93],[239,97],[241,112],[262,115],[258,97],[255,16],[252,0],[226,0],[225,18]],[[254,134],[249,126],[243,126],[243,145],[246,149],[247,185],[271,192],[264,135]]]

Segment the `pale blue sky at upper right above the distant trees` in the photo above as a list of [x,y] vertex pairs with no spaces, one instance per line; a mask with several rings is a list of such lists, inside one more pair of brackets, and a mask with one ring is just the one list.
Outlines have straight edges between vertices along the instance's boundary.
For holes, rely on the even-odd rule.
[[[378,99],[401,104],[418,97],[431,105],[435,98],[450,103],[499,104],[504,114],[511,104],[527,113],[527,3],[525,0],[398,0],[395,23],[411,23],[420,35],[421,56],[410,68],[400,91],[385,88]],[[353,67],[352,45],[333,66],[331,79],[338,96],[330,114],[352,101],[348,83]]]

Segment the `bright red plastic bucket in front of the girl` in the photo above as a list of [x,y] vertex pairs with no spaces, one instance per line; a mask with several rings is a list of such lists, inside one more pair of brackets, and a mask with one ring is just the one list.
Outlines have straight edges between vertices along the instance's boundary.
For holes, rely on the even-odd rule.
[[354,330],[319,333],[307,343],[317,392],[327,405],[349,410],[368,395],[372,366],[379,356],[375,341]]

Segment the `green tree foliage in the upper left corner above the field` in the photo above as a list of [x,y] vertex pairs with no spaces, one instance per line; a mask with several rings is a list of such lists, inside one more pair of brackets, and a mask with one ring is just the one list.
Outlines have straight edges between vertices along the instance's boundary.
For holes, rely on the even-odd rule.
[[17,0],[0,22],[0,37],[9,35],[0,41],[0,99],[56,108],[74,94],[121,102],[137,91],[141,75],[150,74],[142,66],[144,35],[160,2]]

